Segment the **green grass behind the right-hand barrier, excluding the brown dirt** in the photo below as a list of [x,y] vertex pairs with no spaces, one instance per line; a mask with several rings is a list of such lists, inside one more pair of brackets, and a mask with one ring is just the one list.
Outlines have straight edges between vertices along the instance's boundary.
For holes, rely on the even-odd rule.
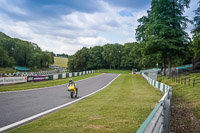
[[[200,79],[200,73],[182,75],[181,77],[190,77],[190,80]],[[173,96],[188,103],[193,109],[195,116],[200,119],[200,84],[192,87],[192,82],[190,86],[188,84],[185,86],[184,84],[173,82],[167,77],[160,77],[159,80],[172,86]]]

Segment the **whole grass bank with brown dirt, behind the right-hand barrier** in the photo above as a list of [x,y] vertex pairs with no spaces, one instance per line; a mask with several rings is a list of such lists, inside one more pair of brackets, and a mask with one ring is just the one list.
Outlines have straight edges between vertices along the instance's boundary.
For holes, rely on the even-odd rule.
[[[182,75],[182,78],[200,79],[200,74]],[[172,86],[172,132],[200,132],[200,84],[192,87],[176,83],[167,77],[159,77],[159,81]]]

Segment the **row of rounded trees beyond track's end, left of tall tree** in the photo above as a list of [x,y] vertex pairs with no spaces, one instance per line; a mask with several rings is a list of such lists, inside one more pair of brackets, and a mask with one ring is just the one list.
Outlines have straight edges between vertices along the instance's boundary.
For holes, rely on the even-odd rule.
[[[91,48],[83,47],[73,56],[69,57],[68,67],[71,71],[81,71],[87,69],[129,69],[139,68],[139,64],[134,61],[138,57],[134,53],[137,43],[106,44]],[[134,57],[135,56],[135,57]]]

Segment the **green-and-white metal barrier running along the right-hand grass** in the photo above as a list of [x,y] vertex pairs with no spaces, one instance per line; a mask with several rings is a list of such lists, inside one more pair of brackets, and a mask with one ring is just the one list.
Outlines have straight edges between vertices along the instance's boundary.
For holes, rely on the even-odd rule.
[[144,73],[142,73],[142,76],[149,84],[162,91],[164,96],[137,130],[137,133],[169,133],[172,88],[149,78]]

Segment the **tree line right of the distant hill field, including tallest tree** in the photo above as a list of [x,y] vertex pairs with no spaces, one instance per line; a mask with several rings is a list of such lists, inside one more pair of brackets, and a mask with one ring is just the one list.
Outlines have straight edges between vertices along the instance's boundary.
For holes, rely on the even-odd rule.
[[[190,0],[152,0],[147,16],[138,19],[137,42],[82,48],[69,57],[72,71],[98,68],[147,69],[200,62],[200,7],[194,20],[184,16]],[[198,2],[200,4],[200,2]],[[194,24],[192,38],[185,32]],[[193,62],[195,65],[195,62]],[[200,65],[200,64],[199,64]]]

